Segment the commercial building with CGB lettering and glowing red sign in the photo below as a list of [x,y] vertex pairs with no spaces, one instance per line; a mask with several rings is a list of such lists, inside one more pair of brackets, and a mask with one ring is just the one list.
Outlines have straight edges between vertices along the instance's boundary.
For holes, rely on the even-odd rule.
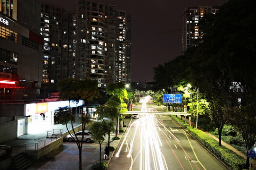
[[26,119],[24,103],[40,92],[39,9],[40,0],[0,1],[0,141],[17,137],[19,125],[24,129],[26,124],[19,124]]

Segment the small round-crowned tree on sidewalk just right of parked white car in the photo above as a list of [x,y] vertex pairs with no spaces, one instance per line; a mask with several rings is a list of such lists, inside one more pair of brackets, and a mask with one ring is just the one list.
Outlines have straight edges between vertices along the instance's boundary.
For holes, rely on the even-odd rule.
[[95,141],[98,141],[100,144],[100,162],[101,162],[101,144],[105,140],[105,136],[108,133],[108,125],[105,124],[104,122],[96,122],[93,123],[92,126],[90,127],[92,137],[94,138]]

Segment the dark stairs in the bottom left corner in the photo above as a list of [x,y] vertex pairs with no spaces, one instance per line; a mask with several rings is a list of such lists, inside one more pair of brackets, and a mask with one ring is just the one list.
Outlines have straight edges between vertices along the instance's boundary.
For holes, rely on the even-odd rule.
[[34,162],[36,161],[25,153],[20,153],[11,158],[11,164],[8,170],[27,170]]

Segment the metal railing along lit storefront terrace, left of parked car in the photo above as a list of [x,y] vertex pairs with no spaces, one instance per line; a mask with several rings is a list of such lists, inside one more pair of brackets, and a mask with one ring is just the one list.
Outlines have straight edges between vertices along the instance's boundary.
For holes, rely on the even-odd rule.
[[[50,136],[51,135],[51,136]],[[47,137],[45,140],[40,140],[37,143],[25,143],[25,151],[36,151],[48,144],[53,143],[58,138],[62,137],[62,129],[53,129],[53,131],[47,131]]]

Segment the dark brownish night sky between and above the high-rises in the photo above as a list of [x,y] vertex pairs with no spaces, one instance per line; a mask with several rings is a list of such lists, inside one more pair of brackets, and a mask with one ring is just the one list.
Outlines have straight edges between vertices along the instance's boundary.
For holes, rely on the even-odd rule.
[[[227,0],[102,0],[132,16],[132,82],[151,82],[153,68],[182,54],[185,8],[221,6]],[[75,0],[54,0],[66,10]],[[164,34],[163,34],[164,33]]]

